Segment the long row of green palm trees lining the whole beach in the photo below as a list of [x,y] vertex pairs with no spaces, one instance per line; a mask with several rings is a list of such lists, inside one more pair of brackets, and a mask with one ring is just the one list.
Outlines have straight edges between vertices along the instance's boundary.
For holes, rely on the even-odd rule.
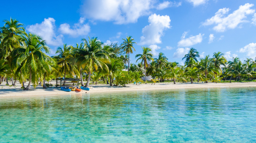
[[195,80],[205,83],[209,80],[217,83],[221,79],[252,80],[256,75],[256,64],[251,58],[244,62],[237,57],[227,61],[224,54],[218,52],[212,58],[198,59],[199,52],[194,48],[182,58],[184,66],[169,62],[163,53],[153,58],[148,47],[142,47],[142,54],[135,56],[137,65],[130,64],[130,53],[135,51],[133,45],[136,44],[131,36],[123,39],[120,45],[104,45],[94,37],[83,38],[80,44],[64,44],[57,48],[56,56],[48,56],[50,47],[40,36],[27,33],[23,24],[15,19],[4,22],[0,27],[0,84],[5,80],[9,85],[9,80],[15,86],[18,81],[24,90],[31,85],[46,88],[45,82],[57,77],[78,76],[81,85],[87,87],[90,81],[97,84],[98,80],[117,86],[130,81],[138,83],[144,77],[147,83],[149,75],[154,83],[171,80],[174,84],[177,80],[191,83]]

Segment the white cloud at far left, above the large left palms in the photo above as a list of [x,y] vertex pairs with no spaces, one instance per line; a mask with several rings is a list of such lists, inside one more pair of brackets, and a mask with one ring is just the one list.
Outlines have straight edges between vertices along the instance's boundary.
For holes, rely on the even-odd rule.
[[49,17],[40,24],[28,25],[26,30],[40,35],[49,45],[60,46],[63,43],[63,35],[56,36],[55,27],[55,20]]

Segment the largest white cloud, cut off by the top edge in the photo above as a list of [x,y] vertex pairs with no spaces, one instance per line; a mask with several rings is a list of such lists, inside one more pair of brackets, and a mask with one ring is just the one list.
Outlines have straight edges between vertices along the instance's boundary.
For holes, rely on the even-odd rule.
[[154,4],[154,0],[84,0],[81,14],[116,24],[136,23],[139,17],[150,14]]

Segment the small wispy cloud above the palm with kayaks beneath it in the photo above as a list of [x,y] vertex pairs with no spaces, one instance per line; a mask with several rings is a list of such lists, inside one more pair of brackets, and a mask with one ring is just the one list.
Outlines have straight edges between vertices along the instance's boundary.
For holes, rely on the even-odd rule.
[[67,23],[60,24],[59,31],[72,37],[85,36],[90,32],[90,26],[89,24],[83,24],[84,20],[84,18],[80,18],[79,23],[75,23],[73,28],[70,28]]

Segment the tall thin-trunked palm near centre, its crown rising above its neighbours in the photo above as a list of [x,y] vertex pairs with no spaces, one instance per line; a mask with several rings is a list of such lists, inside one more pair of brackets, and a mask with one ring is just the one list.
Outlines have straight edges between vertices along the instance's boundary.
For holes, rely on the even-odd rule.
[[[136,42],[133,42],[133,38],[132,36],[127,36],[126,39],[122,39],[124,40],[123,43],[121,44],[124,52],[126,54],[128,54],[128,72],[129,72],[129,66],[130,66],[130,53],[132,54],[133,53],[133,44],[137,44]],[[135,49],[134,49],[135,51]]]

